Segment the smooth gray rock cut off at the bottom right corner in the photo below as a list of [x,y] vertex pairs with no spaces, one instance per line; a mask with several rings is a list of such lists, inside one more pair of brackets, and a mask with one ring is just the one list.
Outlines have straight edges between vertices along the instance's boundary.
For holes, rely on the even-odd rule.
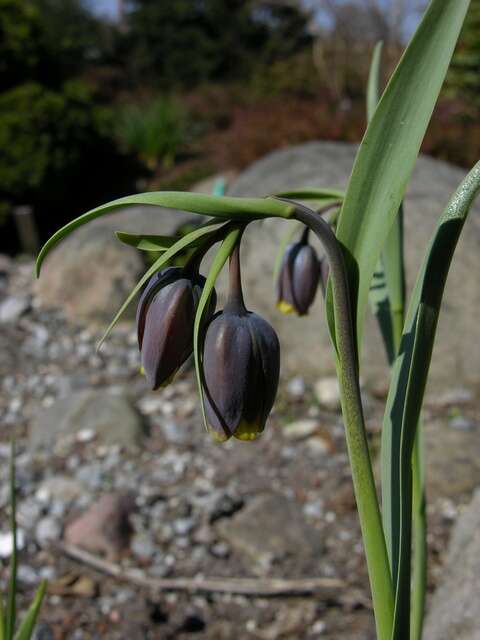
[[480,491],[454,527],[443,570],[433,595],[425,640],[480,640]]

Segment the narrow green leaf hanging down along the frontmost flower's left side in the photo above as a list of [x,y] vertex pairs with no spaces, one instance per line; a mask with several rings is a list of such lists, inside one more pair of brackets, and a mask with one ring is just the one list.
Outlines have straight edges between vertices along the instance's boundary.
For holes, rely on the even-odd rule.
[[223,269],[225,262],[228,260],[229,255],[232,253],[235,245],[240,239],[243,232],[242,226],[234,226],[226,235],[218,249],[215,258],[213,259],[212,266],[207,276],[205,286],[203,287],[202,295],[198,302],[197,312],[195,314],[195,323],[193,327],[193,356],[195,359],[195,372],[197,375],[198,393],[200,396],[200,407],[202,409],[202,418],[205,429],[207,427],[207,418],[205,416],[205,404],[203,399],[203,364],[202,364],[202,343],[201,343],[201,330],[202,323],[205,317],[205,311],[208,309],[210,298],[212,296],[215,282]]

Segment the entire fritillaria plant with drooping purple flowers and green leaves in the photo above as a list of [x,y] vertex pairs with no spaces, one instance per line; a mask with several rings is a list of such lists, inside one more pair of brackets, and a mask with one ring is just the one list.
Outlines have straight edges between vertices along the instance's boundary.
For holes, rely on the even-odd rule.
[[[45,256],[64,236],[128,205],[167,207],[205,216],[202,224],[184,237],[117,234],[122,242],[160,252],[160,257],[131,292],[106,335],[146,285],[138,306],[137,327],[148,383],[152,388],[168,383],[193,353],[207,430],[217,441],[231,436],[254,440],[263,431],[274,402],[280,347],[266,320],[245,307],[241,238],[247,225],[266,218],[278,224],[295,221],[295,233],[303,225],[299,241],[288,247],[279,261],[277,302],[284,310],[305,314],[321,275],[324,279],[328,276],[326,325],[340,384],[379,640],[419,640],[422,633],[424,570],[415,570],[413,587],[411,580],[413,520],[415,557],[421,560],[417,564],[422,567],[425,559],[424,527],[420,526],[421,519],[413,518],[413,511],[424,511],[424,504],[419,506],[421,483],[417,475],[421,462],[415,443],[443,288],[460,231],[480,188],[480,164],[468,174],[440,217],[405,312],[398,304],[399,295],[404,303],[398,221],[406,185],[468,5],[468,0],[430,2],[378,105],[377,50],[369,84],[370,122],[345,192],[304,188],[267,198],[137,194],[102,205],[67,224],[46,243],[37,261],[38,274]],[[335,213],[326,216],[327,210]],[[309,244],[312,233],[323,246],[322,260]],[[204,277],[203,256],[213,247],[216,253]],[[165,268],[187,248],[190,258],[185,267]],[[229,296],[225,307],[215,314],[215,282],[228,260]],[[385,267],[381,304],[378,295],[370,291],[379,265]],[[369,297],[374,309],[390,314],[395,336],[386,340],[391,347],[391,381],[382,430],[381,507],[359,386]]]

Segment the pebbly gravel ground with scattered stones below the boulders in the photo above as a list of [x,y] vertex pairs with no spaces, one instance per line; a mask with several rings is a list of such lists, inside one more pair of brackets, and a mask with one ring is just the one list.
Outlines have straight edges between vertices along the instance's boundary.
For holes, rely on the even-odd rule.
[[[315,385],[282,380],[263,437],[219,446],[201,426],[191,371],[149,392],[132,327],[120,327],[96,353],[96,331],[38,308],[30,263],[0,261],[0,323],[0,588],[8,576],[2,534],[8,530],[8,441],[14,433],[20,603],[31,599],[41,577],[49,581],[37,640],[374,637],[341,418],[321,406]],[[65,405],[58,402],[73,406],[78,398],[99,402],[107,417],[112,399],[126,398],[134,417],[125,427],[126,417],[117,415],[100,431],[95,416],[85,425],[80,410],[73,411],[65,418],[68,430],[52,440],[49,425],[54,429],[63,419]],[[383,400],[365,394],[365,403],[375,452]],[[468,446],[478,444],[478,406],[466,390],[450,400],[437,397],[425,421],[427,440],[433,425],[447,434],[452,450],[470,456],[471,465],[463,484],[442,482],[435,465],[445,447],[437,442],[432,448],[439,452],[429,507],[432,589],[458,506],[480,480]],[[38,444],[42,438],[46,449]],[[458,464],[465,468],[465,460]],[[105,576],[57,546],[73,539],[72,523],[78,529],[79,517],[105,496],[131,502],[130,525],[121,518],[102,522],[103,502],[83,522],[80,540],[136,575],[227,582],[324,577],[336,586],[314,596],[265,598],[158,593]]]

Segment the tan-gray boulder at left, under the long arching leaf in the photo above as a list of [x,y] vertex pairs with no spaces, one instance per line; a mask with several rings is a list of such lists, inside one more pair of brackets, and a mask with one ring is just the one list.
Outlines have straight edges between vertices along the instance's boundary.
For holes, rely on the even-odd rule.
[[[99,203],[101,204],[101,203]],[[70,320],[110,322],[144,271],[141,254],[115,231],[171,234],[199,216],[161,207],[126,207],[77,229],[47,256],[35,286],[40,304],[61,307]],[[125,317],[133,318],[134,305]]]

